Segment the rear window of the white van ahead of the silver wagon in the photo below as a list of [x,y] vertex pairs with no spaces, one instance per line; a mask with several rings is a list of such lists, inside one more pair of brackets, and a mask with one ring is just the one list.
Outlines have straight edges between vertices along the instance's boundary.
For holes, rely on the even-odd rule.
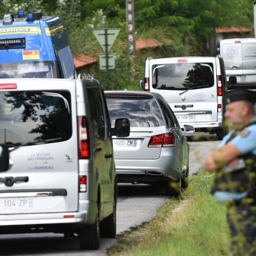
[[214,85],[213,63],[152,65],[152,87],[159,90],[192,90]]

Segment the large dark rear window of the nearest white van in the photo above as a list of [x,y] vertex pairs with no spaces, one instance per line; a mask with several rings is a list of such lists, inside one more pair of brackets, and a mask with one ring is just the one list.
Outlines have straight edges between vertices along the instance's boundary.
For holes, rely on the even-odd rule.
[[0,92],[0,143],[16,147],[70,139],[70,99],[64,90]]

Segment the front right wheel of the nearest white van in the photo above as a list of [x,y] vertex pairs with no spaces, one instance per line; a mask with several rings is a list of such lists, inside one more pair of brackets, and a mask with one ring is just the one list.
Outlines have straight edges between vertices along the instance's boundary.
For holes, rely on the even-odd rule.
[[114,238],[117,233],[117,190],[113,200],[113,213],[100,223],[101,237]]

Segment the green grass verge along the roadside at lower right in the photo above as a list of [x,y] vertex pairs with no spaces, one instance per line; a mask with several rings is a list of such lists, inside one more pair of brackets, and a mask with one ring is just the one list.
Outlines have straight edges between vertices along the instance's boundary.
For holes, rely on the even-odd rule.
[[226,207],[210,194],[212,173],[194,175],[188,189],[158,209],[156,218],[117,238],[108,255],[231,255]]

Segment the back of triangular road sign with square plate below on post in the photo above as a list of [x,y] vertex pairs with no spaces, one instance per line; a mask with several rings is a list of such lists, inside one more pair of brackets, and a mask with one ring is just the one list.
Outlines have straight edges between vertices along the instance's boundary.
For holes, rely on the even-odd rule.
[[119,28],[105,28],[105,29],[94,29],[93,34],[102,46],[105,54],[100,54],[99,63],[100,69],[106,69],[106,79],[109,88],[109,69],[115,68],[114,54],[109,54],[109,50],[116,40],[119,33]]

